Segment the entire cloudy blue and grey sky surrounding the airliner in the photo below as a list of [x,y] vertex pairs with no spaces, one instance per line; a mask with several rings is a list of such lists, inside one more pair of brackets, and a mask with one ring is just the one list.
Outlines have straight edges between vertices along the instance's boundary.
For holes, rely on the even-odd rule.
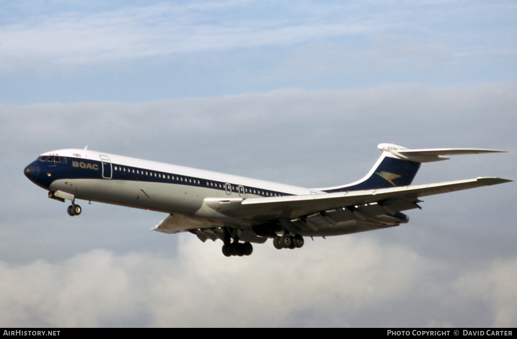
[[68,204],[23,175],[99,150],[303,187],[379,143],[507,151],[414,183],[517,173],[511,1],[0,3],[1,327],[515,327],[515,183],[425,197],[408,224],[271,241],[149,232],[164,213]]

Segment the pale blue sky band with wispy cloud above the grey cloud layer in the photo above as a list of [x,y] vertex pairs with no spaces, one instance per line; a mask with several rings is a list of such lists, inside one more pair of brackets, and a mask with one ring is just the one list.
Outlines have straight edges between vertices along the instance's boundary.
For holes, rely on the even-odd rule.
[[142,102],[516,76],[510,1],[3,7],[3,103]]

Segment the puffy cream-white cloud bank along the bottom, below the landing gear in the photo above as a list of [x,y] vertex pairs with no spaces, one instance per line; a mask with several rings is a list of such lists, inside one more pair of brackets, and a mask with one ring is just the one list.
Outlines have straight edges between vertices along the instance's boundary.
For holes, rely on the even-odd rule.
[[[517,323],[515,258],[438,281],[450,269],[446,262],[368,237],[318,239],[294,251],[268,244],[250,257],[231,258],[220,253],[220,242],[180,237],[178,258],[92,250],[53,264],[2,262],[0,325],[364,326],[351,317],[391,312],[383,307],[401,301],[402,318],[419,315],[409,319],[414,322],[397,317],[398,326],[464,326],[451,315],[472,302],[490,308],[483,316],[493,319],[491,326]],[[430,305],[435,298],[438,305]],[[450,318],[435,318],[430,306]]]

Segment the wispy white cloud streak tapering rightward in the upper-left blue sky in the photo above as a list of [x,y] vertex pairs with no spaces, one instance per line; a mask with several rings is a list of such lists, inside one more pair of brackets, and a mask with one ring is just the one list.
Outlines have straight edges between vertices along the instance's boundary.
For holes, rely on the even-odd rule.
[[221,11],[235,6],[242,4],[163,3],[97,13],[58,12],[49,17],[22,18],[16,24],[0,28],[4,70],[10,70],[17,62],[89,64],[178,52],[280,45],[370,29],[356,23],[299,24],[287,18],[253,18],[248,14],[244,20],[220,15]]

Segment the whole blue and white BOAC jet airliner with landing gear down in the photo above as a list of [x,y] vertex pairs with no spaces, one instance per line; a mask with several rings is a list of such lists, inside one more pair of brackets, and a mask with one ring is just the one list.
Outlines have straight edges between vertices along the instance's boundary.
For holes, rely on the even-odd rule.
[[362,179],[310,189],[84,149],[43,153],[25,176],[49,198],[77,199],[168,213],[152,230],[190,232],[223,241],[225,256],[250,255],[251,243],[273,239],[277,249],[301,248],[303,237],[325,237],[399,226],[401,211],[419,208],[424,196],[491,186],[495,177],[411,185],[421,163],[452,155],[503,152],[476,148],[407,149],[379,144],[381,157]]

